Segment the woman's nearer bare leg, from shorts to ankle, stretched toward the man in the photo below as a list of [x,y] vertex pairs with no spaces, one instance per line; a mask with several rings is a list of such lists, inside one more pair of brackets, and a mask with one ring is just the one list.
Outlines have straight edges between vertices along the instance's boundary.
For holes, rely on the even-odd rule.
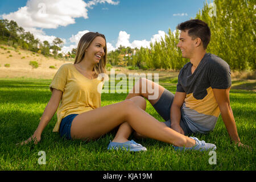
[[73,139],[96,139],[108,133],[123,122],[144,136],[175,146],[192,147],[195,140],[163,125],[131,100],[100,107],[77,115],[72,122]]

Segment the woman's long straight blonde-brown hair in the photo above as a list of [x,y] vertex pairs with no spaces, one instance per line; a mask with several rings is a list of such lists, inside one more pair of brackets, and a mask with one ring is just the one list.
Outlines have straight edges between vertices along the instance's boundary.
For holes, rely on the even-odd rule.
[[[75,63],[80,63],[82,61],[82,59],[84,59],[84,55],[85,55],[85,50],[90,46],[90,43],[93,42],[93,40],[96,38],[96,36],[101,36],[102,38],[104,38],[105,42],[106,42],[106,38],[103,34],[100,34],[98,32],[88,32],[86,34],[84,34],[81,39],[79,40],[79,44],[77,46],[77,51],[76,51],[76,59],[75,59]],[[107,57],[107,48],[105,45],[105,49],[104,49],[105,55],[104,57],[101,58],[100,63],[96,64],[94,66],[94,71],[97,75],[99,75],[100,73],[106,73],[106,57]]]

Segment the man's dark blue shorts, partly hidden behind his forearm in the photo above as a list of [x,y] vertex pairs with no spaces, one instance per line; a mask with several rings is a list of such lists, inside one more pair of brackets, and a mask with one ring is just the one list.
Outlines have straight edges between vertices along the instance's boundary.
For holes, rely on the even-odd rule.
[[[174,94],[171,93],[169,90],[164,89],[162,96],[159,98],[158,102],[153,105],[155,110],[158,114],[166,121],[164,122],[166,126],[171,127],[171,118],[170,118],[170,111],[172,102],[174,101]],[[182,113],[182,107],[181,107]],[[191,135],[192,131],[189,129],[187,122],[184,121],[184,118],[180,117],[180,127],[184,131],[184,135]]]

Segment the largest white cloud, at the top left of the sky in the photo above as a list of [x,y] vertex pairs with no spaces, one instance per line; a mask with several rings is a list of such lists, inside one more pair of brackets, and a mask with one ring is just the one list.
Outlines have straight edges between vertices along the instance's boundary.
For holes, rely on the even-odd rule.
[[2,17],[22,27],[57,28],[75,23],[75,18],[88,18],[86,6],[82,0],[29,0],[26,6]]

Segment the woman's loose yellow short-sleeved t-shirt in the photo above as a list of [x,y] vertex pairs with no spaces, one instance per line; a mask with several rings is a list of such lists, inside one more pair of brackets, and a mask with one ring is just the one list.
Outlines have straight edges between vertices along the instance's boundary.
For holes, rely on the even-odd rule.
[[59,132],[61,119],[70,114],[81,114],[101,106],[101,90],[104,81],[100,77],[90,80],[72,63],[63,64],[52,79],[49,88],[61,90],[63,95],[57,110],[57,122],[53,131]]

